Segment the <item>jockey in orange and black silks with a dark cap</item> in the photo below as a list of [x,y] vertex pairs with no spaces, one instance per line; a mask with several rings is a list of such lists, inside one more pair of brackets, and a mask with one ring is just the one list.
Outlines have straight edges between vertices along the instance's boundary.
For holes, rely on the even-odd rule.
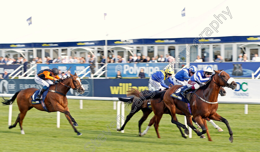
[[37,73],[34,77],[34,80],[37,84],[43,85],[43,88],[38,93],[35,100],[41,100],[41,94],[51,85],[53,82],[51,80],[56,80],[61,82],[61,79],[58,76],[59,70],[57,68],[53,69],[44,69]]

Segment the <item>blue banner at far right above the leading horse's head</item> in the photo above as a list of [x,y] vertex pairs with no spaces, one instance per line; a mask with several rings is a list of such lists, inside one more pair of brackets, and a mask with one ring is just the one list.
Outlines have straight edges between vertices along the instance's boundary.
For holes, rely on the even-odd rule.
[[214,70],[224,70],[231,77],[251,78],[260,66],[259,62],[191,62],[190,65],[198,67],[198,70],[210,65]]

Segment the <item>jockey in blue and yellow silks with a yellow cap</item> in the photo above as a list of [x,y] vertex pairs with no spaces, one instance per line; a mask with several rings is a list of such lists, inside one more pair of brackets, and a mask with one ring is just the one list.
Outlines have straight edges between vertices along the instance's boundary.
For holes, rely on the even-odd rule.
[[164,80],[168,79],[168,81],[174,85],[171,75],[174,73],[174,70],[171,67],[167,67],[164,70],[160,70],[155,72],[149,80],[149,83],[156,89],[156,90],[164,90],[169,88],[167,85],[164,84]]

